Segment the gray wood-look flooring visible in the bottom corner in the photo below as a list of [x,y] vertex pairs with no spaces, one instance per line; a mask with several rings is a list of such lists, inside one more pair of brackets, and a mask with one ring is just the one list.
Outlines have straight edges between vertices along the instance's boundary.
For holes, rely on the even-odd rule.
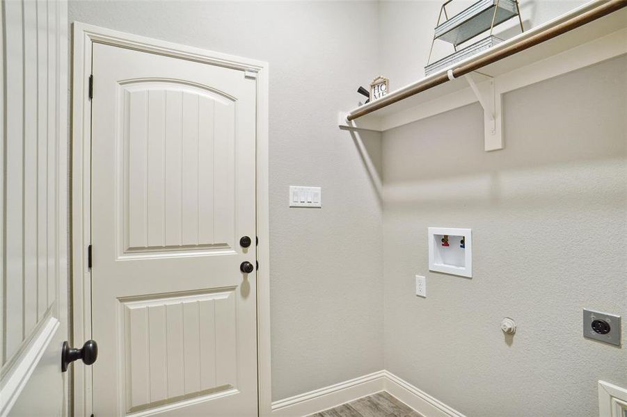
[[381,391],[309,417],[421,417],[403,402]]

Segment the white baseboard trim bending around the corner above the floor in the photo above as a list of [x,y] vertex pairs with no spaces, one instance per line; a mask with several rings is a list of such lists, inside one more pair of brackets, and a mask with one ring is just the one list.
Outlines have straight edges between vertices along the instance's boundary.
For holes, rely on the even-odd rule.
[[380,391],[387,391],[424,417],[465,417],[387,370],[275,401],[272,416],[308,416]]

